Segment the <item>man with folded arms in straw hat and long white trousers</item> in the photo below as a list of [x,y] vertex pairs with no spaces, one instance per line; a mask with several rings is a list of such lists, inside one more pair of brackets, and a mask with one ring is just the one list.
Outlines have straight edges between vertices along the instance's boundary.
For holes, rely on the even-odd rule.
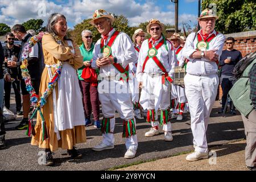
[[202,11],[198,18],[201,30],[188,36],[183,56],[189,61],[184,78],[185,94],[191,114],[195,152],[187,160],[208,158],[207,125],[218,89],[218,60],[224,46],[224,35],[214,30],[218,17],[212,10]]

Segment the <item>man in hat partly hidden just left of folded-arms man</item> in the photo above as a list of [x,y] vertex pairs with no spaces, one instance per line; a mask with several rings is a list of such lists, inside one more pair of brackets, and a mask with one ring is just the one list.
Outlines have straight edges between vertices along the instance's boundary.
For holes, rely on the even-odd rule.
[[[183,39],[180,38],[180,34],[178,33],[174,33],[174,35],[171,36],[171,43],[172,45],[174,45],[174,49],[175,49],[175,54],[177,56],[177,64],[179,66],[181,66],[184,62],[182,51],[183,51],[183,47],[181,46],[184,42]],[[172,88],[176,89],[176,94],[177,94],[177,106],[176,108],[172,107],[172,111],[174,114],[172,114],[172,118],[177,118],[177,121],[181,121],[183,119],[183,111],[184,111],[184,107],[185,107],[185,102],[187,102],[187,98],[185,96],[185,89],[182,88],[181,86],[176,86],[176,85],[172,85]],[[171,92],[172,94],[172,92]],[[172,101],[173,102],[173,101]],[[175,114],[174,110],[177,111],[177,113]]]

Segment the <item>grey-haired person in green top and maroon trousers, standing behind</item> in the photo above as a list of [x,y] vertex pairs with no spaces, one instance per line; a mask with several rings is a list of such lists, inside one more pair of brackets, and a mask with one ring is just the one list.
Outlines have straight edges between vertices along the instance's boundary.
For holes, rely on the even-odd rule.
[[[98,90],[97,90],[97,82],[91,82],[90,80],[84,80],[84,78],[81,77],[82,70],[85,67],[90,68],[90,64],[92,63],[92,57],[93,57],[93,36],[92,32],[90,30],[84,30],[81,33],[82,36],[82,45],[80,46],[80,52],[81,55],[84,57],[84,65],[77,70],[77,74],[79,77],[79,85],[82,92],[82,101],[84,106],[84,115],[85,115],[85,126],[92,125],[92,122],[90,121],[90,114],[94,116],[94,127],[97,129],[101,129],[101,123],[100,123],[100,103],[98,100]],[[86,69],[86,71],[90,71],[89,69]]]

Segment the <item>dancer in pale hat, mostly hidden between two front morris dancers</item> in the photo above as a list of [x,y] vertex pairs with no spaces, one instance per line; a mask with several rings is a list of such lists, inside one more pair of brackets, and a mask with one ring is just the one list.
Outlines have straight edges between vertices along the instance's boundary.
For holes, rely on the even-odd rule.
[[[142,30],[142,28],[138,28],[135,30],[134,35],[132,37],[134,42],[134,48],[136,50],[137,56],[139,56],[139,50],[141,49],[141,45],[145,40],[148,34]],[[144,119],[142,117],[141,105],[139,105],[139,85],[136,79],[136,70],[137,70],[137,63],[138,60],[134,61],[133,63],[129,63],[129,69],[131,74],[129,75],[129,88],[131,90],[131,101],[134,104],[134,113],[135,118],[137,119]]]

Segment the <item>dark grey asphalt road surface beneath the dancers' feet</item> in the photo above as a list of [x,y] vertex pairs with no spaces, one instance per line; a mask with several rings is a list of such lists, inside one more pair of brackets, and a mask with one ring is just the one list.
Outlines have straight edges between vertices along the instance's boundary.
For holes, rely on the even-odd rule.
[[[14,102],[13,97],[12,102]],[[12,105],[11,110],[15,110],[13,108],[15,108],[15,105]],[[218,109],[220,109],[220,104],[216,101],[208,125],[207,138],[209,147],[244,139],[245,134],[241,115],[227,114],[226,117],[222,117],[216,114]],[[20,117],[18,119],[20,120]],[[40,157],[38,156],[38,152],[40,149],[30,145],[31,138],[26,137],[24,130],[14,130],[14,127],[18,125],[17,121],[9,121],[6,123],[7,148],[0,150],[0,170],[106,170],[114,167],[118,168],[125,164],[167,158],[175,154],[180,154],[181,152],[193,150],[189,119],[189,115],[185,114],[183,121],[172,121],[172,134],[174,136],[172,142],[165,142],[163,140],[163,133],[151,138],[144,137],[144,133],[150,129],[150,125],[144,119],[137,120],[139,141],[137,157],[134,159],[125,159],[123,158],[126,148],[124,144],[125,140],[122,139],[122,121],[117,114],[114,149],[100,152],[92,151],[91,148],[101,142],[101,132],[90,126],[86,129],[87,142],[77,145],[83,154],[83,158],[81,160],[70,160],[67,156],[61,155],[63,151],[59,150],[53,156],[56,159],[56,165],[54,167],[46,167],[38,164]],[[240,152],[244,148],[244,143],[237,144],[237,147],[234,147],[234,152]],[[244,155],[241,154],[241,156],[243,157]],[[180,158],[182,157],[180,156]],[[244,166],[243,160],[240,163],[241,166]],[[197,166],[196,163],[193,165]],[[168,165],[161,166],[163,170],[174,169],[168,168]]]

